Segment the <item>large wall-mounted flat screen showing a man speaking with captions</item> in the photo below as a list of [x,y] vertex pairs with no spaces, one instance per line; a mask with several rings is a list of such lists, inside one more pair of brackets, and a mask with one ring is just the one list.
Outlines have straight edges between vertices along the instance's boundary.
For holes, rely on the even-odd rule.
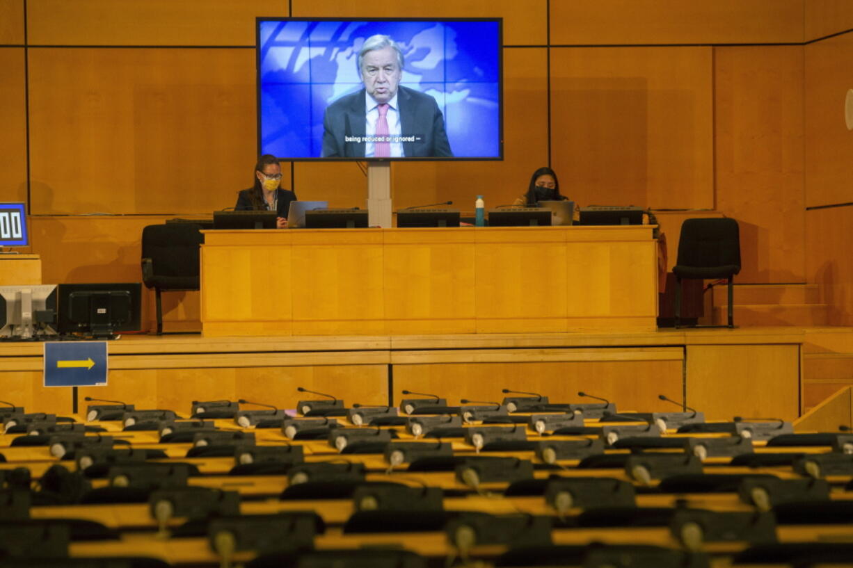
[[502,159],[501,26],[258,18],[259,154]]

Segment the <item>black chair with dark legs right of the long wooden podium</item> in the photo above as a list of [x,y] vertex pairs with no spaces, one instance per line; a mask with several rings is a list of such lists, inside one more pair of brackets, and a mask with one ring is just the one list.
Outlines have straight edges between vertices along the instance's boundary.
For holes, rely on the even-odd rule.
[[732,299],[734,275],[740,272],[740,229],[729,218],[687,219],[678,241],[676,275],[676,327],[681,323],[682,280],[728,280],[728,327],[734,327]]

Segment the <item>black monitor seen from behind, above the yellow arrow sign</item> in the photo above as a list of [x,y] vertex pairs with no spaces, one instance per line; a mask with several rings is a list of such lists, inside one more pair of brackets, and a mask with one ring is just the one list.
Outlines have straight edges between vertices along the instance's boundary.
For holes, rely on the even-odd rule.
[[59,285],[60,333],[97,338],[142,327],[142,284],[115,282]]

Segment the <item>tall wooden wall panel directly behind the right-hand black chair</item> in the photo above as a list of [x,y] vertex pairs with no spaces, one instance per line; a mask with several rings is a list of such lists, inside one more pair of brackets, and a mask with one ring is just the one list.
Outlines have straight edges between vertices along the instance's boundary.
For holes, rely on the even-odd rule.
[[801,46],[715,48],[717,209],[740,223],[740,282],[805,281]]

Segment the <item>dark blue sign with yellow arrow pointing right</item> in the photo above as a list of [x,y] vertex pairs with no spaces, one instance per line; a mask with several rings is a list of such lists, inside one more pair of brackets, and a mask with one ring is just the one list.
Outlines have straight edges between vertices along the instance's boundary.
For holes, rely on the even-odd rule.
[[44,344],[44,386],[107,385],[107,342]]

